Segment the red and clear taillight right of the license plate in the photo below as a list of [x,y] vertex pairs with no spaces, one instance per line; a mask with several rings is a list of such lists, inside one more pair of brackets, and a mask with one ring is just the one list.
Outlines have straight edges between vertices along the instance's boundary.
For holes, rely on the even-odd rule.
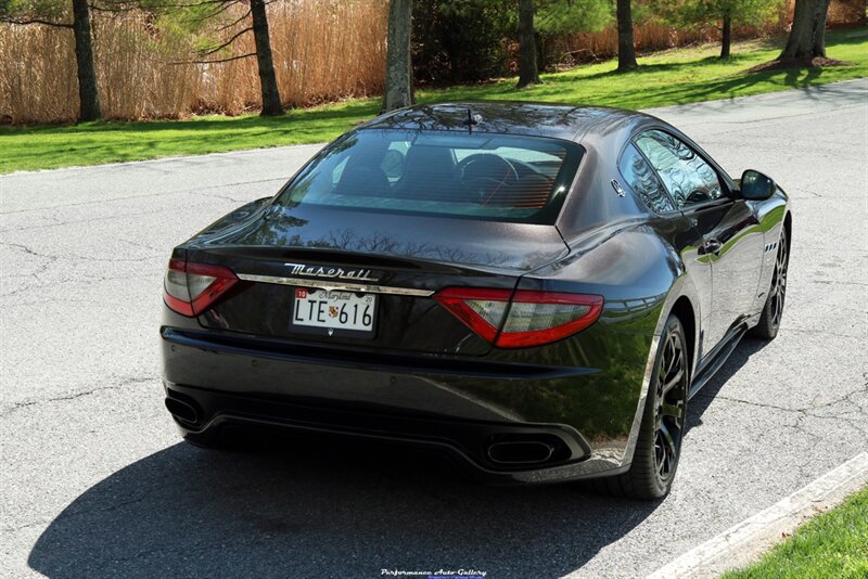
[[434,298],[498,348],[557,342],[591,325],[603,309],[602,296],[525,290],[448,287]]

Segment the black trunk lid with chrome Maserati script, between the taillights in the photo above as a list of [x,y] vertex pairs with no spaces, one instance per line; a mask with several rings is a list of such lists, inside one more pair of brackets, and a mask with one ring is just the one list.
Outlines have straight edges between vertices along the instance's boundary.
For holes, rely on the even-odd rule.
[[[490,345],[432,296],[455,286],[512,290],[522,274],[567,252],[551,226],[322,207],[266,210],[205,230],[187,244],[189,261],[228,266],[243,280],[200,316],[207,327],[361,348],[470,356],[486,353]],[[299,309],[309,307],[314,316],[310,300],[324,298],[322,292],[329,290],[349,291],[359,298],[375,296],[370,304],[372,327],[329,332],[304,325],[310,320],[301,320],[305,314]],[[323,307],[320,319],[334,312],[332,304]],[[365,307],[356,299],[347,300],[350,312],[353,305]]]

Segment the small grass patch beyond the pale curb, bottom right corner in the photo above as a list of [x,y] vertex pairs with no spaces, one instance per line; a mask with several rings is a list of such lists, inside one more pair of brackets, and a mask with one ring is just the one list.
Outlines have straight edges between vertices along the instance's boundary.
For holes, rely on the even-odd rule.
[[868,488],[818,515],[760,562],[722,579],[865,579]]

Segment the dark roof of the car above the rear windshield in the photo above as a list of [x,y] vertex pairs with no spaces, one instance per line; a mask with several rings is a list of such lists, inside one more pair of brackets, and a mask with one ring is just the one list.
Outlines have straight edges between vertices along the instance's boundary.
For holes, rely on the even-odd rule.
[[359,129],[467,131],[468,111],[478,123],[473,132],[550,137],[580,141],[596,133],[621,132],[652,117],[604,106],[523,101],[463,101],[418,104],[379,116]]

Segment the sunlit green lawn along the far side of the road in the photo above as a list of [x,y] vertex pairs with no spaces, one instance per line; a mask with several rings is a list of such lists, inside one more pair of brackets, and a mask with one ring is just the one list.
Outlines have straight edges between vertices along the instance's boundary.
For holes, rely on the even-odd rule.
[[[420,102],[512,99],[648,108],[808,87],[868,76],[868,28],[827,35],[830,57],[853,63],[829,68],[740,74],[778,55],[783,39],[733,44],[719,61],[717,46],[640,57],[640,67],[615,73],[615,62],[542,75],[544,85],[516,90],[515,79],[423,90]],[[379,99],[356,99],[294,110],[277,119],[256,115],[203,116],[189,120],[99,121],[76,126],[0,127],[0,173],[101,163],[141,160],[329,141],[378,114]]]

